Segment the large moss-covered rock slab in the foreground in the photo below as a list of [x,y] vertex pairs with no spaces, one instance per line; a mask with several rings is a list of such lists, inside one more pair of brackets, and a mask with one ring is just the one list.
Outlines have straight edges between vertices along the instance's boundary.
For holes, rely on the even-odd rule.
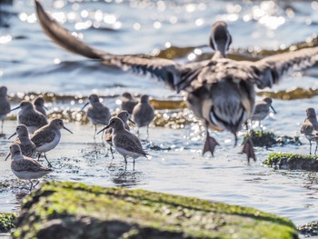
[[51,182],[26,196],[13,238],[298,238],[286,218],[145,190]]

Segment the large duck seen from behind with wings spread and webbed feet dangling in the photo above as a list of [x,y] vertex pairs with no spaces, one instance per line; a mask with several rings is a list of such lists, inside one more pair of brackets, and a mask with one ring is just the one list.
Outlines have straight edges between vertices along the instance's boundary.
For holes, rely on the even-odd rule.
[[[232,37],[226,24],[216,25],[217,30],[213,26],[210,43],[214,45],[217,57],[210,60],[183,65],[151,55],[115,55],[86,45],[47,15],[39,2],[35,1],[35,5],[45,33],[68,51],[99,59],[104,65],[153,75],[177,93],[184,92],[188,107],[206,127],[203,154],[214,154],[217,145],[208,128],[229,131],[237,142],[237,132],[253,115],[255,86],[260,89],[272,87],[290,70],[302,70],[318,60],[318,46],[267,56],[255,62],[227,59],[224,55]],[[248,161],[250,158],[256,159],[249,136],[243,143],[243,153],[247,154]]]

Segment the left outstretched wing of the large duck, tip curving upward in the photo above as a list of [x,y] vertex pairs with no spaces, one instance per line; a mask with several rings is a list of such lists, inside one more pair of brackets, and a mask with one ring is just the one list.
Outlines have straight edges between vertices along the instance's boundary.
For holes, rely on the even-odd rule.
[[47,15],[38,1],[35,1],[35,6],[37,17],[45,34],[57,45],[78,55],[100,59],[105,65],[116,65],[123,70],[129,70],[136,74],[152,75],[170,88],[176,91],[180,90],[178,83],[184,70],[182,65],[172,60],[156,58],[150,55],[113,55],[96,50],[76,38],[75,35],[72,35],[62,25],[59,25],[52,17]]

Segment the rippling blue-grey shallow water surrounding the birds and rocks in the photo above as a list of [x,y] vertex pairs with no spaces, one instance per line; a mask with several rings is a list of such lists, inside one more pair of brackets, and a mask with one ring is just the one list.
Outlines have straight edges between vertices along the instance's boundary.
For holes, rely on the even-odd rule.
[[[70,1],[71,2],[71,1]],[[72,1],[74,2],[74,1]],[[293,2],[224,2],[224,1],[109,1],[75,2],[42,1],[50,14],[65,15],[68,29],[95,23],[102,27],[80,30],[84,41],[95,47],[119,54],[154,54],[164,45],[206,45],[211,23],[226,20],[234,36],[234,48],[257,47],[276,49],[305,41],[317,34],[318,3]],[[52,4],[53,3],[53,4]],[[168,4],[170,3],[170,4]],[[100,11],[97,11],[100,9]],[[147,77],[123,73],[100,63],[72,55],[54,45],[34,19],[33,1],[15,1],[1,5],[8,12],[0,27],[0,85],[6,85],[9,95],[17,92],[53,92],[58,95],[121,95],[134,94],[165,98],[174,93]],[[105,22],[99,22],[99,19]],[[253,18],[252,20],[249,20]],[[75,19],[75,20],[73,20]],[[275,24],[276,23],[276,24]],[[281,23],[281,25],[277,25]],[[76,25],[77,24],[77,25]],[[138,29],[140,27],[140,29]],[[248,39],[248,40],[247,40]],[[257,47],[256,47],[257,46]],[[208,47],[203,51],[210,52]],[[186,57],[178,59],[187,61]],[[316,88],[316,76],[288,75],[274,90],[295,86]],[[114,111],[119,97],[104,99]],[[278,135],[299,135],[307,107],[315,107],[317,97],[294,101],[274,100],[277,115],[263,121],[266,130]],[[15,103],[14,105],[16,105]],[[77,101],[65,100],[55,109],[79,109]],[[15,115],[16,113],[13,113]],[[149,140],[143,140],[150,159],[137,159],[135,170],[119,154],[112,160],[100,136],[94,143],[94,127],[90,124],[68,123],[74,134],[64,131],[61,143],[47,154],[55,171],[45,180],[68,180],[103,186],[144,188],[171,194],[191,195],[229,204],[253,206],[265,212],[286,216],[294,224],[317,220],[317,174],[303,171],[274,170],[262,161],[272,152],[308,154],[309,144],[276,146],[269,150],[256,148],[257,162],[247,164],[238,154],[229,133],[217,133],[218,146],[214,157],[202,156],[204,130],[199,124],[187,124],[180,129],[151,127]],[[6,138],[15,131],[15,121],[5,122]],[[135,132],[135,129],[133,129]],[[0,156],[8,152],[11,141],[0,139]],[[143,131],[142,138],[145,138]],[[241,138],[242,142],[242,138]],[[45,162],[43,161],[43,164]],[[27,193],[10,170],[10,162],[0,160],[1,182],[11,188],[0,192],[0,212],[19,210],[19,198]]]

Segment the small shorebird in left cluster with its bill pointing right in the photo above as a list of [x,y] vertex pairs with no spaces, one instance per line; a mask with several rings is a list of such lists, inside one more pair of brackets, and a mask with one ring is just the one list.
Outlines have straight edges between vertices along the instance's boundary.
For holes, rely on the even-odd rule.
[[[35,131],[35,134],[31,137],[31,141],[35,143],[36,152],[39,153],[38,159],[40,159],[41,154],[54,149],[61,139],[61,129],[67,130],[69,133],[73,134],[68,128],[65,127],[62,119],[54,119]],[[47,160],[45,154],[45,160],[49,166],[52,164]]]

